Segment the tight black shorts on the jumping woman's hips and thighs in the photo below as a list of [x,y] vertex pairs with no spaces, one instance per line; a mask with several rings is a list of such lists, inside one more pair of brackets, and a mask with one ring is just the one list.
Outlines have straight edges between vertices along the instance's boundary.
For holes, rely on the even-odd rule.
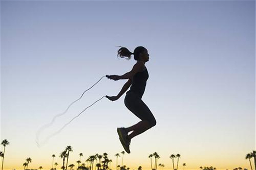
[[125,106],[139,119],[148,121],[151,126],[156,125],[156,119],[139,94],[128,91],[125,96]]

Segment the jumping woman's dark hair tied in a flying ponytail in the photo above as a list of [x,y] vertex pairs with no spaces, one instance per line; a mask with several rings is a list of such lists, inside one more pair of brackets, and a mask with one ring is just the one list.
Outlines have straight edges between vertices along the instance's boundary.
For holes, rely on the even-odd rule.
[[139,56],[140,56],[140,53],[144,52],[145,50],[147,50],[145,47],[139,46],[139,47],[136,47],[134,49],[134,52],[132,53],[127,48],[121,47],[117,51],[117,56],[119,56],[121,58],[125,58],[125,59],[131,59],[131,55],[134,55],[134,59],[138,60]]

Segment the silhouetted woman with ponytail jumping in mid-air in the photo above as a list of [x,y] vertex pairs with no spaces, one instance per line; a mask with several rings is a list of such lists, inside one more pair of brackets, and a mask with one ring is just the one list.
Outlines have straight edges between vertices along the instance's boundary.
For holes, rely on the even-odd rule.
[[[149,54],[148,50],[144,47],[135,48],[134,53],[130,52],[127,48],[121,47],[118,50],[117,55],[121,58],[127,57],[128,59],[131,58],[131,55],[134,55],[134,59],[137,60],[130,72],[125,73],[122,76],[107,75],[108,79],[128,79],[128,81],[122,87],[117,96],[106,97],[111,101],[115,101],[119,99],[131,86],[130,91],[128,91],[125,96],[125,106],[139,119],[141,119],[139,123],[131,127],[117,128],[117,133],[122,146],[127,153],[130,153],[131,139],[156,125],[156,120],[153,114],[141,99],[148,79],[148,71],[145,67],[145,63],[148,62]],[[132,133],[128,135],[131,131]]]

